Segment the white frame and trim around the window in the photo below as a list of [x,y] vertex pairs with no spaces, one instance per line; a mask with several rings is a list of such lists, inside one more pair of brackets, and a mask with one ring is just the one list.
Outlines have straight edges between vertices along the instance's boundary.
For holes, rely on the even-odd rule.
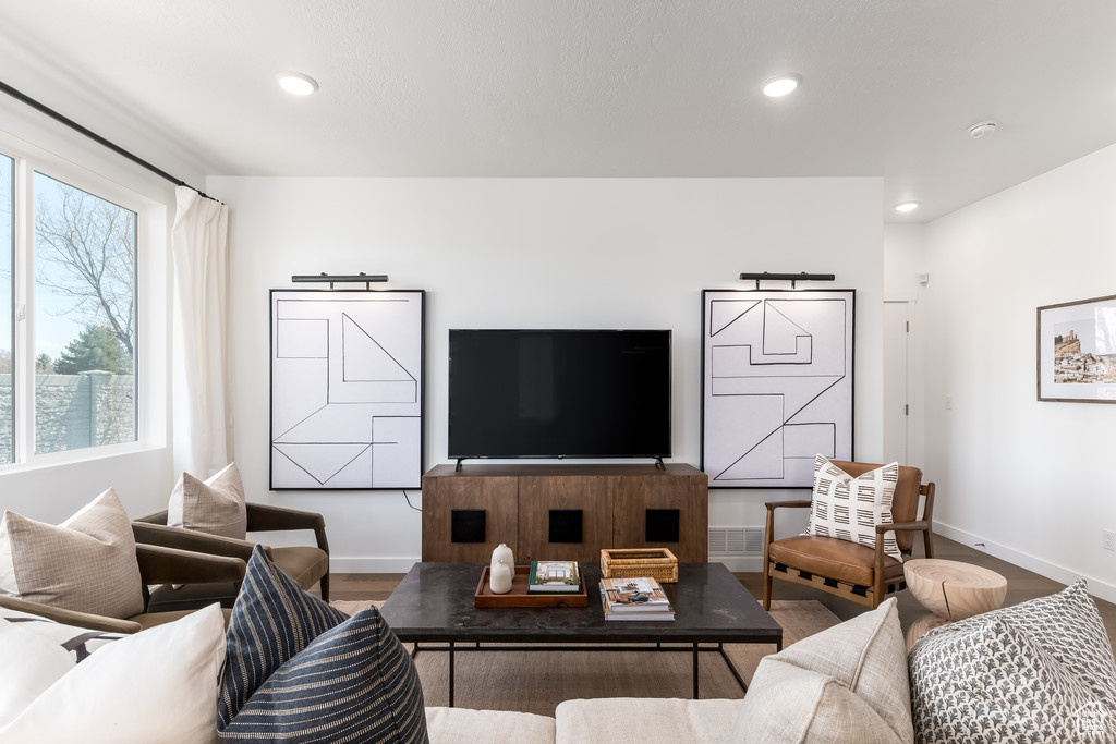
[[[13,462],[0,474],[166,446],[166,205],[38,147],[0,133],[0,154],[15,161],[12,229]],[[62,452],[35,453],[35,174],[55,178],[136,214],[136,438]],[[155,303],[163,298],[163,306]],[[22,313],[20,313],[22,309]],[[22,315],[22,318],[20,318]],[[160,330],[164,332],[160,332]],[[162,379],[161,379],[162,377]]]

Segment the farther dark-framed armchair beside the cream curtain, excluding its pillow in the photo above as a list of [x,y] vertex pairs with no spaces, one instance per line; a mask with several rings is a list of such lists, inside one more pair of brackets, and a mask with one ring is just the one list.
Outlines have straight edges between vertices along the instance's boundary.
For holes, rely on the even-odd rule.
[[[321,514],[297,509],[248,503],[248,531],[271,532],[309,530],[314,532],[315,545],[271,548],[263,545],[268,558],[283,573],[298,581],[302,589],[314,584],[321,587],[321,598],[329,601],[329,543],[326,540],[326,522]],[[219,535],[184,530],[166,525],[166,510],[144,514],[132,520],[132,532],[137,543],[177,548],[211,555],[238,558],[247,563],[256,545],[251,540],[237,540]],[[175,582],[183,583],[183,582]],[[239,584],[229,582],[191,582],[177,589],[170,583],[152,592],[152,606],[160,610],[198,609],[213,601],[222,607],[232,607]]]

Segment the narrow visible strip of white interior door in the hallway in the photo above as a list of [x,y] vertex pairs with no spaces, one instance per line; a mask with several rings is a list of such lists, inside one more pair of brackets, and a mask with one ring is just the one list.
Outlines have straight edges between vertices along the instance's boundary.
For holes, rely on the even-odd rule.
[[910,463],[911,303],[884,302],[884,462]]

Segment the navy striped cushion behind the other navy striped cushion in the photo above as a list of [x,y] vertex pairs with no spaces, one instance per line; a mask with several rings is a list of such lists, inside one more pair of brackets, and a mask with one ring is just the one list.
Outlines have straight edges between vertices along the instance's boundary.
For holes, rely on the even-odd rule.
[[232,722],[276,669],[347,619],[340,610],[302,591],[268,560],[261,545],[256,545],[229,619],[229,658],[218,702],[221,725]]

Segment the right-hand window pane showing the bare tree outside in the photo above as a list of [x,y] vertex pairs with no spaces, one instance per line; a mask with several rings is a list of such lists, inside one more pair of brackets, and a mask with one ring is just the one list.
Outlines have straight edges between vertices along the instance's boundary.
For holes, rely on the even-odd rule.
[[135,212],[35,174],[35,451],[131,442]]

